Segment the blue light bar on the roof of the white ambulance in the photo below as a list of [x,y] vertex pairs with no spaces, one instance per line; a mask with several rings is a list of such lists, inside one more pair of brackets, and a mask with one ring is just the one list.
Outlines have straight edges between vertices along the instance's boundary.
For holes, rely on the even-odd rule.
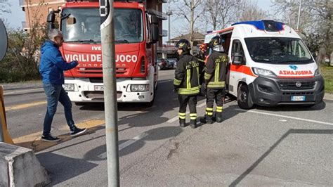
[[276,22],[273,20],[260,20],[260,21],[244,21],[244,22],[236,22],[233,25],[247,24],[253,25],[258,30],[266,30],[268,32],[279,32],[283,30],[283,22]]

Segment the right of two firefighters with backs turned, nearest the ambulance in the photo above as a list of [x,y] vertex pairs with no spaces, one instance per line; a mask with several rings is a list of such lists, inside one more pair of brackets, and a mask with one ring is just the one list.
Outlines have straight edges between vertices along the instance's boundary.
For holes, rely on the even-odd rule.
[[207,87],[207,108],[206,115],[200,121],[203,123],[213,123],[213,108],[216,101],[216,122],[222,122],[223,95],[226,87],[226,65],[228,55],[224,53],[222,39],[219,36],[213,37],[209,41],[211,54],[206,63],[204,82]]

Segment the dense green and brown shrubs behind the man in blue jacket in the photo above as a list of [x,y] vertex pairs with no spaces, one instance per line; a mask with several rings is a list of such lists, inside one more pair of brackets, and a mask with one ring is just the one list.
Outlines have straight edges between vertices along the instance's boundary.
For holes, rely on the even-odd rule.
[[[1,0],[0,0],[1,1]],[[1,82],[20,82],[39,79],[39,47],[46,39],[46,23],[40,15],[40,7],[34,10],[29,32],[8,30],[8,51],[0,63]],[[45,19],[45,18],[44,18]]]

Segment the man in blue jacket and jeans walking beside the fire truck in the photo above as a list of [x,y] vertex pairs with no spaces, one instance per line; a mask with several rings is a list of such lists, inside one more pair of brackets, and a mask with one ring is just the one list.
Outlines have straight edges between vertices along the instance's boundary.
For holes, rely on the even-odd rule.
[[63,89],[65,82],[63,71],[71,70],[78,65],[78,62],[74,60],[71,63],[67,63],[61,56],[59,47],[63,45],[63,34],[59,30],[50,30],[48,39],[41,46],[41,61],[39,65],[39,72],[41,73],[44,91],[47,96],[47,110],[41,140],[60,141],[60,138],[50,134],[58,101],[64,106],[66,121],[70,127],[70,136],[79,136],[86,129],[75,127],[72,117],[72,102]]

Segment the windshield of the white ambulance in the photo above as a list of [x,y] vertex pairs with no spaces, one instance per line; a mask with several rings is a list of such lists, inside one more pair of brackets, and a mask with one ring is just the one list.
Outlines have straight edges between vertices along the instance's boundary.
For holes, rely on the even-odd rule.
[[246,38],[252,60],[258,63],[312,63],[308,49],[301,39],[260,37]]

